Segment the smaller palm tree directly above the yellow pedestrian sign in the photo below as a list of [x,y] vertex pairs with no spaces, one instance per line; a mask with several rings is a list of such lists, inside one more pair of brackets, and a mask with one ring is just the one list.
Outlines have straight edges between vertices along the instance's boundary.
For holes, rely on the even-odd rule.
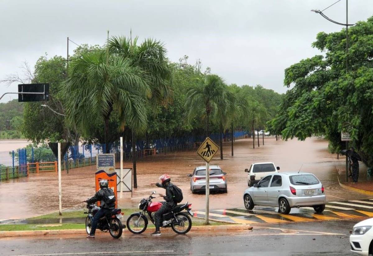
[[216,118],[218,109],[225,101],[226,87],[223,80],[217,75],[206,75],[204,79],[197,78],[198,83],[186,93],[186,115],[191,121],[199,116],[205,121],[206,137],[210,134],[211,118]]

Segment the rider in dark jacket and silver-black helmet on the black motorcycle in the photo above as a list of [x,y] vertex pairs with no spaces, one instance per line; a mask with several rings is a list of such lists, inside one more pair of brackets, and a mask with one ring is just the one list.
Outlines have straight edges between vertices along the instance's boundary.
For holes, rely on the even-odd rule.
[[98,190],[93,197],[84,201],[84,202],[87,202],[88,204],[101,201],[101,209],[98,210],[98,212],[93,217],[91,232],[87,236],[88,238],[94,238],[98,220],[104,217],[106,214],[109,214],[109,212],[115,208],[115,200],[113,200],[114,202],[110,202],[110,203],[107,203],[105,200],[106,197],[109,197],[109,199],[113,199],[113,197],[115,198],[113,190],[109,188],[109,182],[105,179],[102,179],[99,181],[99,183],[100,183],[100,190]]

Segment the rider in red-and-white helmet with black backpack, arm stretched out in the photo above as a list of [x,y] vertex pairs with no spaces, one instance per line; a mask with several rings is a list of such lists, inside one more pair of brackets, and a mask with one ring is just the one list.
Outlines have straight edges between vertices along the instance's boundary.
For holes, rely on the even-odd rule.
[[152,233],[152,236],[160,236],[161,232],[159,230],[159,227],[161,225],[161,218],[162,215],[166,212],[169,212],[172,208],[176,206],[174,197],[175,193],[173,192],[173,184],[170,183],[171,178],[168,174],[164,174],[161,177],[159,177],[159,180],[162,181],[162,183],[152,183],[153,185],[156,185],[157,187],[162,187],[163,189],[166,189],[166,195],[159,194],[160,197],[163,197],[165,202],[162,202],[163,205],[161,208],[159,208],[158,211],[156,211],[154,215],[155,224],[156,224],[156,231]]

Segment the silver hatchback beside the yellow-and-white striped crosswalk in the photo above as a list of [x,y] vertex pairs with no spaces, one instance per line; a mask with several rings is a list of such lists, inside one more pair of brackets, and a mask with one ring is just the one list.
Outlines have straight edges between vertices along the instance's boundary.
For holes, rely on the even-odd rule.
[[312,206],[320,213],[325,209],[326,196],[321,182],[311,173],[275,173],[262,178],[244,192],[244,205],[278,207],[288,214],[293,207]]

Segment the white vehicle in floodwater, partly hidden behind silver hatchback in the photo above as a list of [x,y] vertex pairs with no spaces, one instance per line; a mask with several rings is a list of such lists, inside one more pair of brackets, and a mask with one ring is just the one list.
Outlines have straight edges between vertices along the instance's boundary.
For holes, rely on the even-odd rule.
[[252,164],[250,169],[245,169],[245,173],[247,173],[247,185],[251,187],[258,183],[264,176],[278,173],[279,170],[280,167],[276,167],[272,162]]

